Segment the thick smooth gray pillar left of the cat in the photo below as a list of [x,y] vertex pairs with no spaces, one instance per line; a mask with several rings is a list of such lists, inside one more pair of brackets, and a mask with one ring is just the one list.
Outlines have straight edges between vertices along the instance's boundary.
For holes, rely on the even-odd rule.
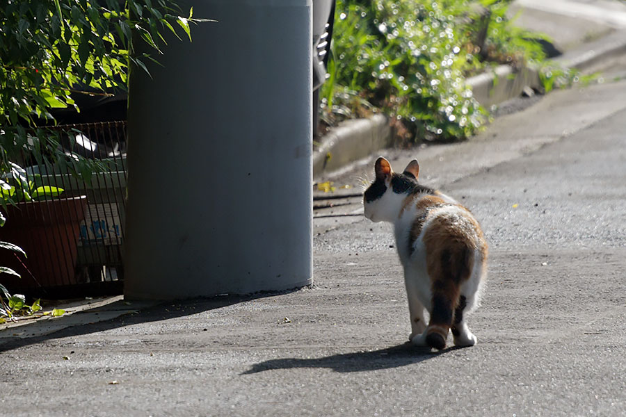
[[312,281],[311,0],[198,0],[131,71],[125,295]]

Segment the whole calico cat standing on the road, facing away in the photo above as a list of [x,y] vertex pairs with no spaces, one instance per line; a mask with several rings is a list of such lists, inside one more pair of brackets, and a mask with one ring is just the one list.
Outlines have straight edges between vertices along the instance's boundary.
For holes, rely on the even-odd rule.
[[[402,174],[382,157],[374,170],[376,180],[363,196],[365,217],[394,224],[410,341],[442,350],[451,329],[455,345],[475,345],[466,316],[479,304],[487,272],[488,248],[479,223],[451,197],[418,183],[415,159]],[[424,309],[430,314],[428,326]]]

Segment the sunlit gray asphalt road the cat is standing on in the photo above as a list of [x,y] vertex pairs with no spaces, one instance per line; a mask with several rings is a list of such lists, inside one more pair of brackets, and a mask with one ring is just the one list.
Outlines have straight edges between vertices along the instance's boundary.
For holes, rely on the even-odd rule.
[[[554,92],[464,144],[385,152],[398,169],[417,157],[424,181],[483,224],[490,276],[469,320],[474,347],[405,343],[390,227],[323,217],[314,288],[156,306],[3,343],[0,415],[626,415],[625,115],[626,82],[593,85]],[[334,180],[356,184],[369,170]],[[346,203],[341,213],[359,210]]]

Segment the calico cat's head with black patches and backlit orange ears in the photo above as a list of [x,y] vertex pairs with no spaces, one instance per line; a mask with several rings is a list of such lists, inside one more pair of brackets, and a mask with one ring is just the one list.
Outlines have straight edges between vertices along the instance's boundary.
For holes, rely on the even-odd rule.
[[374,164],[374,172],[376,179],[363,194],[365,217],[372,222],[393,222],[407,195],[420,187],[417,183],[419,163],[414,159],[402,174],[397,174],[389,161],[381,156]]

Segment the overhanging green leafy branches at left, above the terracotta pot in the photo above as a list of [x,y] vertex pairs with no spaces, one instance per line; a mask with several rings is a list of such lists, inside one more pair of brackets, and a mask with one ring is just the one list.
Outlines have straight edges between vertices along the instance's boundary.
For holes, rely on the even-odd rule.
[[[190,24],[205,20],[192,15],[193,8],[185,17],[165,0],[7,1],[0,8],[0,173],[22,152],[65,158],[47,129],[50,110],[78,111],[77,95],[126,90],[129,67],[147,71],[166,33],[191,40]],[[134,39],[152,52],[138,53]]]

